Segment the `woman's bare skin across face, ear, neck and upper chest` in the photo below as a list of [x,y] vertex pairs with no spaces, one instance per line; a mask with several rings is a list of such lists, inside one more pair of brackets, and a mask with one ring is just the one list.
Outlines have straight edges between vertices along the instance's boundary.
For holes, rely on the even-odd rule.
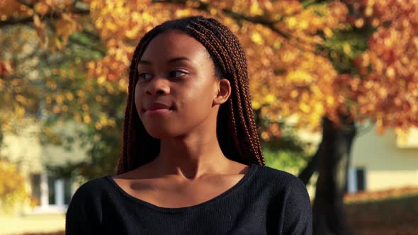
[[249,166],[227,159],[216,134],[231,86],[215,76],[205,47],[181,31],[163,33],[137,69],[135,106],[147,132],[161,140],[160,153],[115,182],[133,197],[169,208],[198,205],[237,184]]

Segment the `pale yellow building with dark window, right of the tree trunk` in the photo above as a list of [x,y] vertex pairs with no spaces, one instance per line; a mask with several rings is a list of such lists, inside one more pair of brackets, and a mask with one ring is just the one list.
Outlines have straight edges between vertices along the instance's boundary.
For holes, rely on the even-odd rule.
[[418,129],[405,139],[392,130],[360,133],[351,154],[349,192],[418,187]]

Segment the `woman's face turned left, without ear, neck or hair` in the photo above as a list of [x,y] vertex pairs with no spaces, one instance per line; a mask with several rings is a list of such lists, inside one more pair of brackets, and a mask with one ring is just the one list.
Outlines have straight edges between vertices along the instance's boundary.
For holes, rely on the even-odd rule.
[[220,79],[200,42],[179,30],[157,35],[137,70],[135,106],[152,137],[181,137],[216,125]]

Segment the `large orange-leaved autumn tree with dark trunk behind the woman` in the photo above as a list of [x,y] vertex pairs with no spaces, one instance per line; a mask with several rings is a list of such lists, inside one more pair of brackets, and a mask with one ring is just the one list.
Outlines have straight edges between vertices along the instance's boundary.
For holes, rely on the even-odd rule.
[[[217,18],[238,36],[247,54],[261,137],[279,137],[279,122],[288,117],[296,118],[296,127],[322,131],[322,143],[300,175],[307,183],[319,172],[315,234],[350,234],[342,195],[355,122],[371,118],[378,130],[390,127],[398,133],[418,125],[417,5],[414,0],[3,0],[0,27],[33,27],[43,52],[60,54],[77,45],[98,53],[52,69],[71,77],[69,71],[77,69],[67,68],[83,67],[87,79],[79,84],[94,88],[62,90],[44,99],[51,104],[45,110],[103,130],[120,123],[100,111],[106,96],[96,95],[95,88],[106,89],[107,95],[125,91],[132,50],[141,35],[171,18]],[[7,63],[4,71],[16,71]],[[84,79],[81,74],[77,78]],[[50,84],[52,90],[58,87],[57,80]],[[91,98],[95,108],[87,105]],[[74,108],[79,105],[81,110]]]

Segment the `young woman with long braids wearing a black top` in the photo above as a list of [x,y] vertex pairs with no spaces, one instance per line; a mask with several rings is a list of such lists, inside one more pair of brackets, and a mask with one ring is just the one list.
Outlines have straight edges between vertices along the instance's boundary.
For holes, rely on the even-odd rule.
[[235,35],[167,21],[134,52],[116,176],[74,194],[66,234],[312,234],[305,185],[264,166]]

